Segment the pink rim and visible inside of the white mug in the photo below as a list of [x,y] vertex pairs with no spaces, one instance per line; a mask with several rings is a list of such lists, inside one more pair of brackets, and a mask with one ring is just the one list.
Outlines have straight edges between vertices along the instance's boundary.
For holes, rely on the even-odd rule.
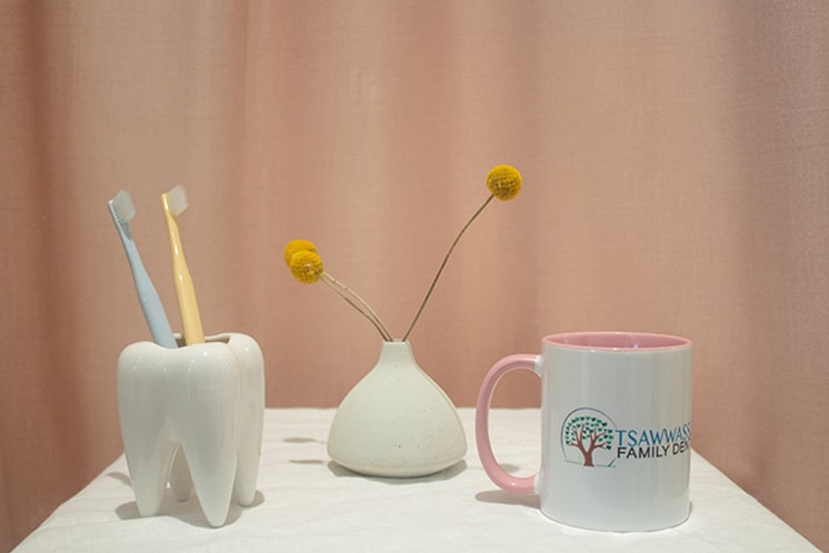
[[545,336],[542,342],[556,348],[586,351],[662,351],[690,348],[687,338],[653,332],[587,331],[559,332]]

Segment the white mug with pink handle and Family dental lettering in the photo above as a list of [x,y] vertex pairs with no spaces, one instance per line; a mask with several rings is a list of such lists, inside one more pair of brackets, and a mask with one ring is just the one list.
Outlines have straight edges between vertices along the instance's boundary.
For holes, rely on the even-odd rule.
[[[513,370],[541,378],[541,470],[533,476],[505,472],[489,439],[492,394]],[[690,512],[691,342],[630,332],[549,335],[540,355],[509,355],[490,369],[476,436],[492,482],[538,493],[555,521],[617,532],[680,524]]]

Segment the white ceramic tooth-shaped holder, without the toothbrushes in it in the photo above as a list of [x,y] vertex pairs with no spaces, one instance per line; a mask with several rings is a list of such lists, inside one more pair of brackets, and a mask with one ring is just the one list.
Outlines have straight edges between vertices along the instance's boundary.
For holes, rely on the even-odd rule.
[[158,514],[168,480],[179,501],[192,482],[212,526],[227,521],[233,492],[241,505],[253,502],[264,363],[252,338],[226,333],[176,350],[128,345],[118,359],[118,413],[141,516]]

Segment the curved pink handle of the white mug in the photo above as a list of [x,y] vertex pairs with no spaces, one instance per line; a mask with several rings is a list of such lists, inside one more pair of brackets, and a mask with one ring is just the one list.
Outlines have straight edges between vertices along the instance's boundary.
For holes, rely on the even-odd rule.
[[536,372],[538,358],[538,355],[519,353],[503,358],[496,363],[483,379],[481,391],[478,394],[478,406],[475,411],[475,436],[478,443],[478,456],[483,470],[499,487],[515,493],[535,493],[536,475],[512,476],[498,464],[492,453],[492,444],[489,441],[489,404],[492,401],[498,381],[508,372],[523,369],[538,375],[538,372]]

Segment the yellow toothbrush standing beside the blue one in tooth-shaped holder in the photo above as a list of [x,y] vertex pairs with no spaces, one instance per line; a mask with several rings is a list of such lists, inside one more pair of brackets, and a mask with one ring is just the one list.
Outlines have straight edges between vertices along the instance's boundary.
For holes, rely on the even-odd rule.
[[196,290],[187,268],[184,251],[181,248],[179,235],[179,217],[187,209],[187,194],[184,189],[176,185],[169,192],[161,194],[161,204],[164,208],[167,230],[170,234],[170,251],[172,252],[172,271],[176,280],[176,293],[179,296],[179,311],[181,312],[181,324],[184,330],[184,343],[204,343],[204,331],[201,328],[199,316],[199,304],[196,302]]

